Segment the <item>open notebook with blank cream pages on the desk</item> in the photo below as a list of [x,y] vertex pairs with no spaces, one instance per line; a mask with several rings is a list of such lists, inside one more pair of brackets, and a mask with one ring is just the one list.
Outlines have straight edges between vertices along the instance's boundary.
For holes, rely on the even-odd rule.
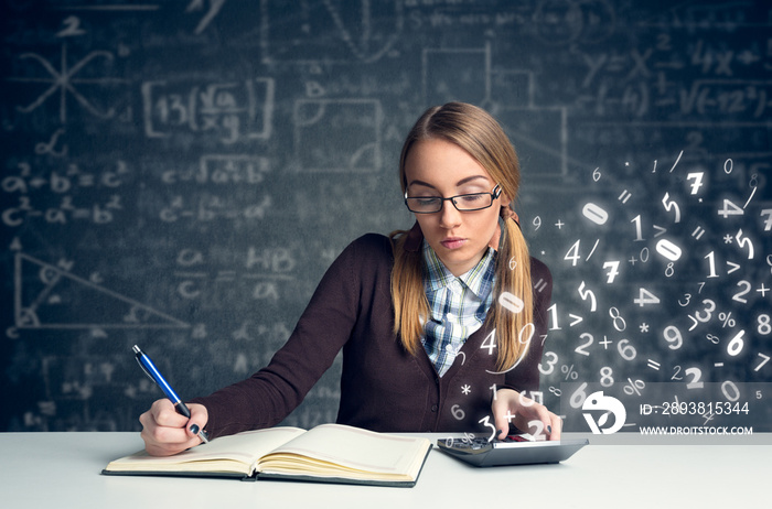
[[271,427],[223,436],[169,457],[144,451],[110,462],[106,475],[172,475],[415,486],[431,442],[342,424]]

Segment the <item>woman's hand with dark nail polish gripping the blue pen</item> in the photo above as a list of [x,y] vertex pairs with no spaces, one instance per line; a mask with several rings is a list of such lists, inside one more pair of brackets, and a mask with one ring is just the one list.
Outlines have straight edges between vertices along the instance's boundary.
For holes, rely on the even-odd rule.
[[141,436],[148,454],[171,456],[201,443],[201,438],[191,426],[196,425],[199,430],[203,430],[210,420],[208,412],[203,404],[192,403],[187,408],[191,411],[190,419],[176,413],[171,401],[161,399],[139,416],[142,424]]

